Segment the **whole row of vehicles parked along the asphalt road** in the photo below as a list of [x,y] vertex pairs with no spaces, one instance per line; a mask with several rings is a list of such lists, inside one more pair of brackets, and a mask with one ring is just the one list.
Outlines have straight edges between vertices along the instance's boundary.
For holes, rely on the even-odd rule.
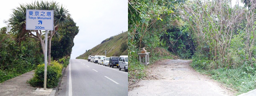
[[98,63],[103,66],[109,66],[114,67],[117,66],[119,70],[124,69],[126,72],[128,72],[128,55],[121,55],[119,57],[117,56],[111,56],[106,57],[104,55],[89,55],[88,57],[89,62]]

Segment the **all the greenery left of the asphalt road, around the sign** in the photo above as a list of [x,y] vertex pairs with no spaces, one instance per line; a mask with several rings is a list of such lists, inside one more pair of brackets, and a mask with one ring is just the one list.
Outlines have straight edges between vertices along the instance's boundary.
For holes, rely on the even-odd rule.
[[45,31],[26,30],[26,9],[55,10],[55,30],[49,31],[48,36],[48,46],[51,46],[48,48],[51,50],[48,49],[47,66],[47,87],[55,87],[62,75],[62,68],[69,64],[73,40],[79,31],[67,9],[57,2],[36,1],[20,4],[13,9],[10,19],[6,21],[7,26],[0,31],[0,83],[35,70],[34,77],[28,83],[34,87],[43,87],[44,45],[41,43],[43,39],[39,38],[45,38]]

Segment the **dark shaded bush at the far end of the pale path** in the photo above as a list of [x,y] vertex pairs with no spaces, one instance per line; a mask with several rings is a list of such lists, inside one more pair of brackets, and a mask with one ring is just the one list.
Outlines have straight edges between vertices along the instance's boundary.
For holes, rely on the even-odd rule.
[[[177,22],[182,21],[177,20]],[[178,55],[180,58],[191,58],[195,51],[191,33],[188,26],[176,26],[167,29],[160,37],[160,45],[168,48],[169,52]]]

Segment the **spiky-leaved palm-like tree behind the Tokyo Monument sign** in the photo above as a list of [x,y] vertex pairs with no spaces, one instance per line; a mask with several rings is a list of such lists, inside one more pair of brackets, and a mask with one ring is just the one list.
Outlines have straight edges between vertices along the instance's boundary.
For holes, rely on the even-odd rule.
[[[45,44],[44,37],[45,32],[41,30],[26,30],[26,9],[39,9],[39,10],[54,10],[54,30],[49,31],[49,35],[47,36],[49,39],[48,43],[48,65],[50,65],[51,60],[51,41],[56,40],[59,41],[62,37],[59,34],[58,28],[65,23],[70,23],[70,21],[66,18],[69,15],[69,11],[65,9],[62,5],[59,5],[56,2],[39,2],[35,1],[31,4],[20,4],[19,7],[13,9],[13,14],[11,14],[11,18],[8,20],[11,26],[11,32],[16,35],[17,42],[21,42],[26,40],[27,37],[34,38],[40,41],[41,48],[43,54],[45,55]],[[52,38],[54,37],[54,38]]]

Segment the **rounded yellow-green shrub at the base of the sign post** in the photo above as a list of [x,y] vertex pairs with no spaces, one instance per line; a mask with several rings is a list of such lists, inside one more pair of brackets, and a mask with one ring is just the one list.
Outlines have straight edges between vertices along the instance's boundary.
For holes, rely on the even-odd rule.
[[[53,88],[58,85],[59,78],[61,77],[63,65],[59,64],[57,61],[52,61],[51,65],[47,66],[47,81],[46,87]],[[44,71],[45,64],[38,65],[35,69],[35,74],[33,78],[28,81],[33,87],[43,87],[44,85]]]

